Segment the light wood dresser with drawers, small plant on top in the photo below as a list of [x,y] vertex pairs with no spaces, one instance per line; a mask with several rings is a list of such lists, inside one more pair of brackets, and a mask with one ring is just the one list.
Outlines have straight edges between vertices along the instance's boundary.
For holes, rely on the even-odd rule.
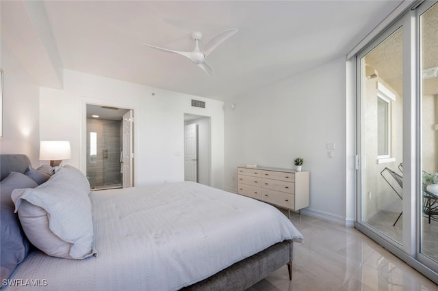
[[309,171],[237,167],[237,193],[298,211],[309,206]]

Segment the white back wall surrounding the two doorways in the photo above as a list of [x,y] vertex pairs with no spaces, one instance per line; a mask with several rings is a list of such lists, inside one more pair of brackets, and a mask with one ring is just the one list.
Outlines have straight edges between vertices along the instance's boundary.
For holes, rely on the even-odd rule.
[[[206,108],[192,107],[192,98]],[[184,113],[211,117],[211,186],[223,187],[223,102],[64,70],[64,89],[40,90],[40,137],[69,140],[65,163],[84,173],[86,103],[133,109],[136,186],[183,181]]]

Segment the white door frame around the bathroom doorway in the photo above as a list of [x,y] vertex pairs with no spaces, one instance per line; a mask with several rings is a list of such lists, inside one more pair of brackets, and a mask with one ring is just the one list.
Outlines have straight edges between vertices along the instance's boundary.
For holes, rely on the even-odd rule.
[[[82,118],[81,118],[81,133],[79,136],[79,170],[86,175],[87,174],[87,105],[96,105],[96,106],[107,106],[107,107],[115,107],[120,109],[127,109],[131,110],[133,112],[133,115],[135,114],[135,110],[133,106],[131,105],[123,105],[118,102],[111,102],[110,100],[101,100],[101,99],[95,99],[95,98],[86,98],[83,97],[81,100],[81,111],[82,111]],[[131,142],[133,145],[133,168],[132,168],[132,178],[133,178],[133,186],[136,186],[136,148],[138,148],[137,145],[138,140],[138,134],[136,133],[135,127],[133,130],[133,137],[131,137]]]

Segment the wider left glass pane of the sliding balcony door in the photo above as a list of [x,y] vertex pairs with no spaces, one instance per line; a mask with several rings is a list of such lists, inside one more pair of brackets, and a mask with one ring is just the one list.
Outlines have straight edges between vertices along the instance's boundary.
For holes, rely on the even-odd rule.
[[398,27],[359,58],[361,221],[402,245],[402,36]]

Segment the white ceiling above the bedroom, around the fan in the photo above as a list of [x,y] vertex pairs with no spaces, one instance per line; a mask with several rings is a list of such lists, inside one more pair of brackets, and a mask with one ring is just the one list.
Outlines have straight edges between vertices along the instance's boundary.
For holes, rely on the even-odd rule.
[[[23,46],[27,50],[38,46],[34,55],[43,47],[44,59],[55,67],[52,71],[62,66],[220,100],[346,55],[400,4],[394,0],[27,1],[20,7],[13,4],[15,10],[10,10],[12,4],[1,2],[2,33],[3,18],[10,21],[5,24],[23,30],[5,33],[2,39],[13,51],[20,47],[18,54],[25,54]],[[6,15],[22,9],[27,10],[31,18],[27,23],[34,24],[34,31],[28,31],[23,18]],[[142,45],[190,51],[192,31],[203,33],[202,48],[229,28],[239,31],[206,59],[213,69],[211,77],[185,57]],[[25,40],[19,39],[35,33],[40,43],[24,45]]]

